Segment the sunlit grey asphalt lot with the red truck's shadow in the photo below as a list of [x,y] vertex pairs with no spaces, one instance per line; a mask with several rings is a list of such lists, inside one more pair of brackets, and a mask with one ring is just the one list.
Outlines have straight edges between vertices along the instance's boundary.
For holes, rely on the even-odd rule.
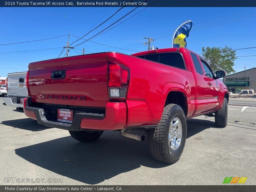
[[0,98],[0,185],[31,184],[5,178],[62,179],[33,185],[221,185],[225,177],[248,177],[244,184],[256,185],[256,107],[241,112],[228,106],[225,128],[216,127],[214,117],[188,120],[183,154],[168,165],[151,157],[146,140],[104,132],[80,143],[2,103]]

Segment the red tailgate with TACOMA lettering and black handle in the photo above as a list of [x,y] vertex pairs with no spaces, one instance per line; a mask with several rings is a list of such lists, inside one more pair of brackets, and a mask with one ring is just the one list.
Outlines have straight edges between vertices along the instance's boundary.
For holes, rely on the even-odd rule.
[[39,61],[28,68],[32,102],[106,107],[107,53]]

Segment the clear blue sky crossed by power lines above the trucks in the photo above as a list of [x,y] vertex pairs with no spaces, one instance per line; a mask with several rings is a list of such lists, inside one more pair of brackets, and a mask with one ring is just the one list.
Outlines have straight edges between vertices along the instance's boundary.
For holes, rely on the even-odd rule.
[[[66,34],[81,36],[93,25],[96,27],[97,24],[106,20],[119,8],[120,7],[0,8],[0,17],[2,19],[0,44],[32,41]],[[127,7],[122,9],[104,25],[84,38],[90,38],[97,34],[132,9],[134,8]],[[136,9],[123,20],[142,9],[144,8],[140,7]],[[148,47],[143,45],[145,41],[143,37],[150,36],[151,38],[155,38],[153,42],[154,46],[158,48],[168,48],[172,45],[174,30],[187,20],[192,20],[195,24],[187,38],[187,47],[197,53],[202,52],[203,46],[224,47],[227,45],[232,49],[256,46],[256,8],[246,7],[146,8],[116,28],[92,39],[92,41],[124,49],[145,51]],[[62,51],[62,48],[57,47],[65,46],[67,39],[68,36],[63,36],[32,43],[0,45],[0,76],[7,76],[7,73],[12,72],[27,71],[30,62],[57,58]],[[70,36],[70,43],[76,39],[76,37]],[[82,40],[73,45],[81,42]],[[50,48],[57,49],[31,51],[27,53],[14,52]],[[133,51],[126,51],[92,42],[86,42],[76,48],[76,51],[79,53],[82,53],[81,50],[83,48],[85,48],[87,53],[106,51],[123,52],[125,54],[135,53]],[[79,55],[76,51],[70,50],[69,56]],[[62,56],[64,56],[64,54],[65,53],[63,53]],[[236,55],[256,55],[256,48],[239,50]],[[236,72],[243,70],[244,66],[246,66],[246,69],[256,67],[255,59],[256,56],[238,58],[234,66]]]

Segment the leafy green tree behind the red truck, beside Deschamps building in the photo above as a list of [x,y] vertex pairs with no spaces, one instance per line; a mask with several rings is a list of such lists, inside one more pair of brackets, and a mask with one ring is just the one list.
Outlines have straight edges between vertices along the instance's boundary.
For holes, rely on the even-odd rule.
[[235,65],[234,61],[237,59],[236,51],[232,51],[228,46],[225,46],[225,48],[203,47],[202,51],[204,59],[214,72],[218,70],[225,71],[226,74],[236,72],[233,69],[233,66]]

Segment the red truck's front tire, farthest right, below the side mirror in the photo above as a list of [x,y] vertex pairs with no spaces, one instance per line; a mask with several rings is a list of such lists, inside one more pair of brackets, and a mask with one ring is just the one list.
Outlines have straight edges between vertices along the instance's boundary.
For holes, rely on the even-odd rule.
[[215,112],[215,124],[218,127],[226,127],[228,123],[228,100],[224,98],[222,108]]

